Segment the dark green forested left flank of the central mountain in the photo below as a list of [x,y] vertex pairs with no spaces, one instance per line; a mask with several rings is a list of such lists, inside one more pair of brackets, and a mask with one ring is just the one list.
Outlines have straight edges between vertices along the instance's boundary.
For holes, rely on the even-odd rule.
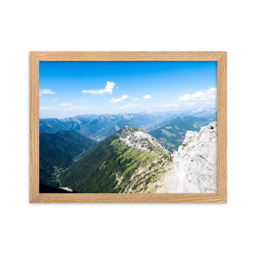
[[[118,155],[114,147],[110,145],[117,138],[116,133],[101,141],[81,160],[61,173],[59,179],[62,186],[79,193],[118,193],[117,190],[113,190],[116,179],[112,174],[123,166],[120,165],[120,161],[114,164],[114,159]],[[100,168],[101,166],[104,168]]]

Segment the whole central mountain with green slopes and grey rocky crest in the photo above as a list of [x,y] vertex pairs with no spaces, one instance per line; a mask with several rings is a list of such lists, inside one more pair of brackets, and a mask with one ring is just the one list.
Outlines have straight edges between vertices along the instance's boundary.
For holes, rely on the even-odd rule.
[[[132,145],[126,141],[130,136]],[[149,192],[171,163],[168,153],[145,130],[126,126],[88,151],[59,180],[78,193]]]

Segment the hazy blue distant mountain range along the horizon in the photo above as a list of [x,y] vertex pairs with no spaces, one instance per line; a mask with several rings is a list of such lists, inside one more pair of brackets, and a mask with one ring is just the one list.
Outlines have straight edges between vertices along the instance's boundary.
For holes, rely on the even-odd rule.
[[[62,130],[73,130],[86,137],[101,141],[126,125],[134,128],[142,127],[151,131],[157,124],[173,117],[195,116],[217,120],[216,108],[197,108],[186,111],[155,112],[144,111],[137,114],[84,114],[65,119],[40,119],[39,132],[56,133]],[[214,121],[210,120],[210,121]]]

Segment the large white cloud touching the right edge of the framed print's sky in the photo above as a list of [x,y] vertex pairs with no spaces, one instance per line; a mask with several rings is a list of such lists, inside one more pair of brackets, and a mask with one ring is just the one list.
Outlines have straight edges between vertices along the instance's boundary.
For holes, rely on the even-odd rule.
[[215,99],[217,98],[217,87],[216,88],[210,88],[203,91],[197,91],[196,93],[190,95],[190,94],[184,94],[178,98],[177,101],[208,101],[209,99]]

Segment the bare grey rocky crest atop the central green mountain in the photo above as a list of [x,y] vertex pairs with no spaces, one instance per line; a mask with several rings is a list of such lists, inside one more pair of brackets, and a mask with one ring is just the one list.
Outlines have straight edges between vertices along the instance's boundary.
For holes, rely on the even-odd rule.
[[142,127],[134,129],[131,126],[125,126],[118,136],[128,146],[133,146],[141,150],[150,150],[156,153],[170,155],[170,152],[156,138],[148,134]]

